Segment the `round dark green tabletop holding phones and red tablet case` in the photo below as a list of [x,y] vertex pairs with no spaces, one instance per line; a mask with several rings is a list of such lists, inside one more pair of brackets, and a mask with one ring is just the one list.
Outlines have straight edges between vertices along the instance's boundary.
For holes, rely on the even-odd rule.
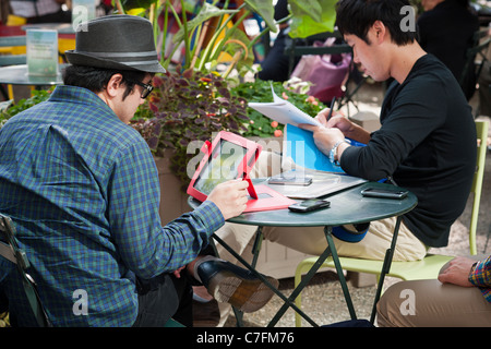
[[[294,213],[288,208],[244,213],[228,221],[274,227],[335,227],[400,216],[411,210],[418,203],[416,195],[410,192],[404,200],[363,197],[361,191],[368,186],[393,188],[394,185],[367,182],[338,193],[322,196],[322,198],[331,202],[328,208],[310,213]],[[189,203],[193,208],[200,204],[193,198],[190,198]]]

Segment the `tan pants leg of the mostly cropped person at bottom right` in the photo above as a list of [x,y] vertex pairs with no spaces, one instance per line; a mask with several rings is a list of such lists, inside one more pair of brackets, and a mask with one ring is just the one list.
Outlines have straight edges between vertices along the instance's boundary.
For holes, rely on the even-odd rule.
[[376,309],[381,327],[491,326],[491,303],[477,287],[442,284],[436,279],[394,284]]

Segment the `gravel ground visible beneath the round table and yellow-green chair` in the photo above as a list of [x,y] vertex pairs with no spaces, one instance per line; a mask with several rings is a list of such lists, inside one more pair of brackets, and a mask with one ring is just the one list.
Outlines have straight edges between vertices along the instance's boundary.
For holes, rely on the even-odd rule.
[[[378,85],[368,85],[358,96],[360,109],[378,112],[382,98],[382,89]],[[471,100],[471,105],[476,104],[476,99]],[[352,112],[352,111],[351,111]],[[478,253],[491,253],[491,152],[488,152],[484,183],[480,205],[479,225],[477,231]],[[470,221],[471,200],[462,217],[454,224],[451,231],[450,244],[445,249],[432,249],[431,252],[446,253],[451,255],[466,255],[469,253],[468,245],[468,227]],[[395,278],[386,278],[385,286],[399,281]],[[292,278],[280,280],[280,290],[285,294],[290,294],[294,289]],[[352,298],[358,317],[369,318],[372,310],[373,298],[375,294],[375,286],[356,288],[348,278],[348,288]],[[246,326],[266,326],[283,305],[283,301],[278,297],[274,297],[272,301],[260,311],[246,314]],[[337,275],[333,270],[319,273],[311,284],[302,292],[302,310],[306,311],[318,324],[331,324],[349,318],[343,291],[337,282]],[[288,310],[284,317],[276,325],[277,327],[295,326],[295,315],[292,310]],[[230,315],[226,326],[235,326],[235,317]],[[303,322],[302,326],[309,326]]]

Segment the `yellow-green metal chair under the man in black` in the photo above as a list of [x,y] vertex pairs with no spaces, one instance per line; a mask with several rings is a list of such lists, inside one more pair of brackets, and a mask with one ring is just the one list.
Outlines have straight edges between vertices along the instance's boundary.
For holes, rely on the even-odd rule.
[[[479,203],[481,198],[482,178],[484,174],[488,121],[476,121],[476,130],[478,137],[477,166],[476,172],[474,174],[472,186],[470,190],[470,192],[474,193],[472,210],[469,227],[469,250],[471,255],[477,254],[476,230],[479,217]],[[454,258],[454,256],[428,254],[421,261],[392,262],[391,268],[390,270],[387,270],[386,275],[397,277],[403,280],[433,279],[438,277],[442,266],[444,266],[452,258]],[[300,284],[302,274],[306,274],[316,262],[316,260],[318,257],[309,257],[298,264],[295,273],[295,287],[297,287]],[[343,269],[345,270],[375,274],[378,278],[380,277],[384,264],[384,261],[361,260],[342,256],[339,257],[339,262]],[[332,257],[327,258],[322,264],[322,267],[334,268],[335,265],[333,258]],[[301,293],[297,297],[295,303],[299,309],[301,308]],[[301,327],[301,316],[298,313],[295,314],[295,324],[297,327]]]

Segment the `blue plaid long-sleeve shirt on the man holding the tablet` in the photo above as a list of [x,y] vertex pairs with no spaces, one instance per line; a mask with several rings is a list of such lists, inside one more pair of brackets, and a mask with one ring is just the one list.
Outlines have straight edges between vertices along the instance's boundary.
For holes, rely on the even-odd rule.
[[[149,279],[188,264],[224,224],[205,202],[163,228],[146,142],[94,93],[73,86],[58,86],[1,129],[0,197],[55,326],[131,326],[134,275]],[[1,272],[5,261],[0,280]],[[16,275],[5,278],[7,291],[29,325]]]

